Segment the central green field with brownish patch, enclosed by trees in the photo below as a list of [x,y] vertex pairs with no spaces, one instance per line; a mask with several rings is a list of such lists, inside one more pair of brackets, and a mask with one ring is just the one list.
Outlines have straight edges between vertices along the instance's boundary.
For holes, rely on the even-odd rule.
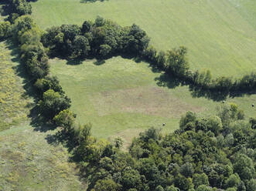
[[[180,116],[188,110],[213,114],[217,102],[194,99],[188,87],[160,87],[160,73],[152,72],[145,62],[114,57],[97,65],[95,60],[72,65],[60,59],[50,61],[53,75],[72,100],[72,110],[81,123],[91,122],[94,136],[121,136],[128,142],[133,136],[151,126],[164,132],[178,128]],[[256,95],[227,99],[236,102],[247,116],[255,116]]]

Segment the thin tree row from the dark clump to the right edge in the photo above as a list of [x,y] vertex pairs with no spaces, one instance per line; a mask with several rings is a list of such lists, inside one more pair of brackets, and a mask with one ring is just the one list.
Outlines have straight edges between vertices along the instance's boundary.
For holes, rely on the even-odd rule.
[[241,79],[221,76],[213,79],[210,70],[192,72],[186,58],[187,49],[183,46],[167,52],[157,52],[152,46],[142,52],[142,57],[148,62],[165,71],[168,75],[175,75],[182,82],[200,89],[212,92],[250,92],[256,89],[256,72],[244,75]]

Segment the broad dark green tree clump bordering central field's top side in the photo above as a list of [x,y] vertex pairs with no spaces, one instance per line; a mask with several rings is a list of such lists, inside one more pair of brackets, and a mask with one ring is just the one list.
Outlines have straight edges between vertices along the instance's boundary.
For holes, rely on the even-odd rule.
[[85,21],[81,27],[62,25],[48,28],[42,42],[53,56],[104,59],[122,52],[140,55],[148,47],[149,39],[138,25],[122,28],[97,17],[94,23]]

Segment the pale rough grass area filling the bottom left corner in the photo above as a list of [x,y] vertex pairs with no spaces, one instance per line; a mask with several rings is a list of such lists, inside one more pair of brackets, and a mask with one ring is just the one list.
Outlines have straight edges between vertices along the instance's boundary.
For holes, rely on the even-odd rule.
[[47,142],[55,132],[36,132],[27,123],[0,132],[0,190],[85,190],[67,149]]

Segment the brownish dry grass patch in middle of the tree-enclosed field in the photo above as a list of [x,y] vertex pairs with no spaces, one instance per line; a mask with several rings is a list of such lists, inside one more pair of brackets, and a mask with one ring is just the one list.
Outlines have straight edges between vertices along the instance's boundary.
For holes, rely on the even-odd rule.
[[90,97],[99,116],[111,112],[138,112],[152,116],[179,117],[190,110],[200,112],[200,106],[192,106],[156,86],[99,92]]

